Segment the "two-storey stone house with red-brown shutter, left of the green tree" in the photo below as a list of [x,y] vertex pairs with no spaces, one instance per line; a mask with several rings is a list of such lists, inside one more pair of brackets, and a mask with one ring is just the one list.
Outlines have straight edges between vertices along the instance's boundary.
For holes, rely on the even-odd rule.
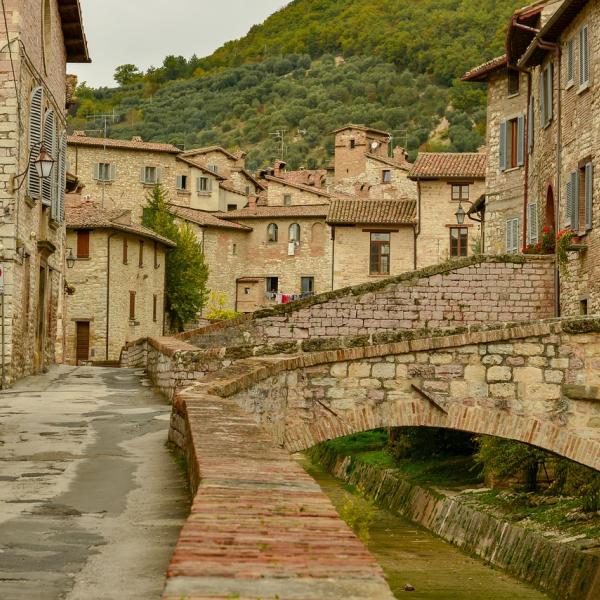
[[[72,196],[72,195],[69,195]],[[164,331],[165,252],[170,240],[123,208],[69,198],[65,362],[112,363],[126,342]]]

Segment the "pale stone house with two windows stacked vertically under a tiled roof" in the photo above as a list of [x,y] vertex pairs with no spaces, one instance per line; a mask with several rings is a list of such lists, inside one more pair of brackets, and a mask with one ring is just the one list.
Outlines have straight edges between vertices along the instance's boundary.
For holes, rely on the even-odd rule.
[[417,184],[417,268],[470,256],[481,244],[480,225],[457,222],[485,192],[487,156],[480,152],[422,152],[408,176]]

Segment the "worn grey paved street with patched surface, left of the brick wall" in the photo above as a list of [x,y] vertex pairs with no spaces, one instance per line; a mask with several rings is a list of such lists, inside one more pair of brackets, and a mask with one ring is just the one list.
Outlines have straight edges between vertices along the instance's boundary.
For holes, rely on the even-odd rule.
[[169,405],[136,370],[0,392],[0,598],[159,598],[188,497]]

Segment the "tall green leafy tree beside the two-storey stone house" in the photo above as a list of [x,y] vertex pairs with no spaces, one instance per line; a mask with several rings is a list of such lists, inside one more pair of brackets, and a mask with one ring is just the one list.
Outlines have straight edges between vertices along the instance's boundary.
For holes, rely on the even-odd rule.
[[171,329],[183,331],[206,304],[208,266],[190,225],[177,225],[168,211],[163,187],[155,185],[146,200],[144,226],[177,244],[167,251],[165,304]]

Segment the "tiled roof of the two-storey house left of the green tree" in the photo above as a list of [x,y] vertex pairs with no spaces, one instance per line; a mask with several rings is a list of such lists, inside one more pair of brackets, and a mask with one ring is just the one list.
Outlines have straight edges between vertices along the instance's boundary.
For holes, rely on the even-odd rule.
[[132,235],[138,235],[155,240],[169,246],[175,247],[175,242],[158,235],[151,229],[131,222],[131,211],[118,209],[100,208],[94,202],[78,201],[80,196],[69,194],[65,207],[65,220],[67,229],[117,229]]

